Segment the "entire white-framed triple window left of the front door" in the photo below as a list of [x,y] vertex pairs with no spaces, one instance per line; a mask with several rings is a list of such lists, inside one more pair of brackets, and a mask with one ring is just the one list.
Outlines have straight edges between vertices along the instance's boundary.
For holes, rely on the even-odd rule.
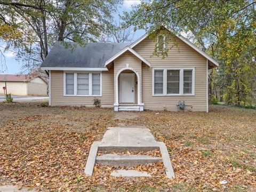
[[64,95],[101,96],[101,73],[64,73]]

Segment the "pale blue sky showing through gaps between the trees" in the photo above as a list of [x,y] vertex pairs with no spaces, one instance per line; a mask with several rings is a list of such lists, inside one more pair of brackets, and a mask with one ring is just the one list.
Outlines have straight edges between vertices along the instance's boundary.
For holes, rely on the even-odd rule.
[[[138,5],[139,3],[140,0],[125,0],[123,5],[118,8],[117,13],[114,15],[115,19],[118,20],[118,14],[122,15],[123,11],[129,11],[131,10],[132,5]],[[145,34],[145,31],[143,30],[135,31],[133,41],[143,34]],[[3,52],[3,47],[0,47],[0,49]],[[7,50],[4,52],[4,55],[7,69],[4,73],[0,72],[0,74],[19,74],[22,70],[20,69],[21,65],[19,65],[19,62],[15,60],[15,52]]]

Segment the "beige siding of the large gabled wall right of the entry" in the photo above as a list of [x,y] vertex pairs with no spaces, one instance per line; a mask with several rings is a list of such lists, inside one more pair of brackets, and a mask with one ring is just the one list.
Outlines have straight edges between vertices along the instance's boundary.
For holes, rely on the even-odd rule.
[[[133,48],[151,63],[151,68],[142,64],[142,103],[145,109],[163,110],[166,107],[175,111],[177,103],[184,100],[185,105],[193,106],[193,111],[206,111],[206,59],[177,37],[175,39],[178,47],[174,45],[165,59],[162,55],[151,57],[155,47],[152,39],[146,38]],[[195,67],[195,95],[153,96],[152,68],[156,67]]]

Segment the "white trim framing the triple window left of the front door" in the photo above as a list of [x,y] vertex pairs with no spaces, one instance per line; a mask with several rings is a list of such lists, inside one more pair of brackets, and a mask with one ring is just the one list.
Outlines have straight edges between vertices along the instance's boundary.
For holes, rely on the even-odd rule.
[[[66,94],[66,74],[74,73],[74,94]],[[77,94],[77,74],[86,73],[89,74],[89,95],[78,95]],[[92,74],[100,74],[100,95],[92,94]],[[63,96],[65,97],[102,97],[102,72],[101,71],[63,71]]]

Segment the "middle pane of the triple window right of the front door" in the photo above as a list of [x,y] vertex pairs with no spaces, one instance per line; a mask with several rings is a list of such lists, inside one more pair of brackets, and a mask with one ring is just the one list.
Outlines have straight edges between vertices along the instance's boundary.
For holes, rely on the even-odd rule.
[[180,70],[167,70],[167,94],[180,93]]

